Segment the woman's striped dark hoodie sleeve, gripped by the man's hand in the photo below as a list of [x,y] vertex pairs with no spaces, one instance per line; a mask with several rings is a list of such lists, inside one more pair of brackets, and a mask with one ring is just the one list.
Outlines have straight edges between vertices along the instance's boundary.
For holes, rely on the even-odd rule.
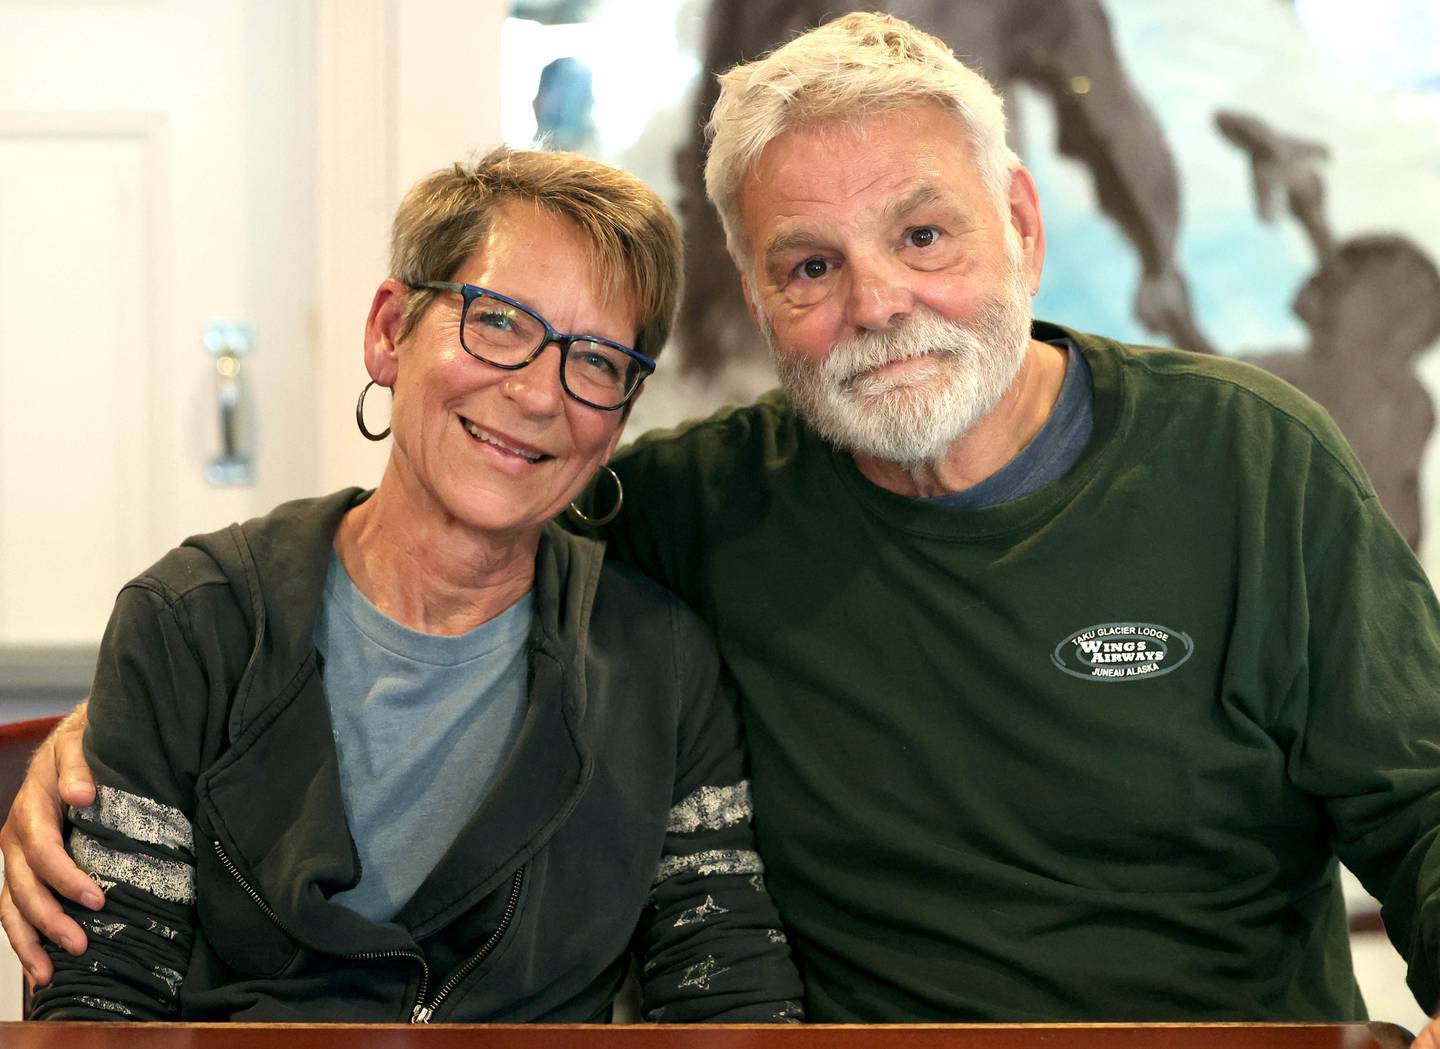
[[[85,756],[96,798],[68,816],[76,865],[105,889],[98,912],[62,901],[85,954],[53,944],[37,1020],[163,1020],[179,1014],[194,925],[194,767],[207,674],[183,604],[160,586],[121,591],[101,643]],[[186,742],[190,741],[190,742]]]

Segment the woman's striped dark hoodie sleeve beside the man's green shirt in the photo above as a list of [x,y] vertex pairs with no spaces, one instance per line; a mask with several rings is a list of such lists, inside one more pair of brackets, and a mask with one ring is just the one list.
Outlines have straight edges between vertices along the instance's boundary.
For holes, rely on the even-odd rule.
[[734,689],[698,621],[693,628],[701,637],[677,646],[687,666],[672,807],[636,934],[641,1013],[798,1023],[802,987],[755,850]]

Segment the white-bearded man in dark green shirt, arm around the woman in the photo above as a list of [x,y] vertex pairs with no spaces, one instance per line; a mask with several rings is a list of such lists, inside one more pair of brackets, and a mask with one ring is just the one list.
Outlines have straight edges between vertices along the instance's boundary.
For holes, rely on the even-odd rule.
[[1359,1017],[1336,854],[1433,1004],[1440,610],[1323,412],[1031,329],[999,99],[901,22],[732,71],[711,133],[785,392],[636,442],[609,537],[740,683],[809,1017]]

